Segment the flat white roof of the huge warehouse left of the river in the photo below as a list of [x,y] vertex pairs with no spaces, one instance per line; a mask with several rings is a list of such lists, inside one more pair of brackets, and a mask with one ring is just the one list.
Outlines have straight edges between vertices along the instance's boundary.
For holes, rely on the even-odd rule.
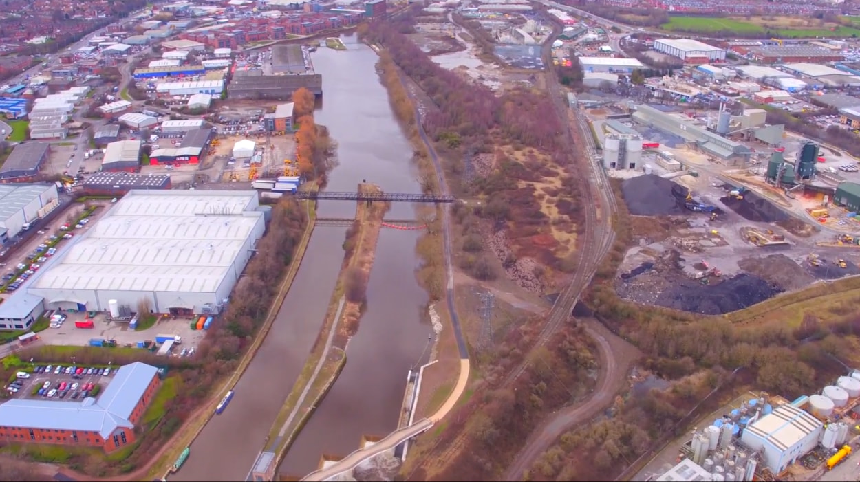
[[256,202],[253,191],[131,191],[30,290],[214,292],[249,247]]

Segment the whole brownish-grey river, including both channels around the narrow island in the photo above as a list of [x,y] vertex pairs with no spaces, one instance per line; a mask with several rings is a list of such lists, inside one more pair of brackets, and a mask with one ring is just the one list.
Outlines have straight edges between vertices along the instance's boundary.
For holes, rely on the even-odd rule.
[[[362,180],[389,192],[420,192],[412,148],[396,123],[375,70],[376,54],[344,38],[347,51],[313,54],[324,101],[316,122],[338,142],[338,166],[329,191],[354,191]],[[320,203],[321,217],[352,217],[355,204]],[[410,204],[392,205],[390,218],[415,216]],[[346,229],[314,230],[292,288],[236,396],[212,418],[171,480],[243,480],[263,447],[286,396],[316,340],[340,269]],[[280,469],[304,476],[324,454],[347,455],[364,434],[396,429],[408,369],[426,362],[429,323],[421,322],[427,294],[415,281],[415,231],[384,229],[367,290],[359,333],[347,347],[347,365]]]

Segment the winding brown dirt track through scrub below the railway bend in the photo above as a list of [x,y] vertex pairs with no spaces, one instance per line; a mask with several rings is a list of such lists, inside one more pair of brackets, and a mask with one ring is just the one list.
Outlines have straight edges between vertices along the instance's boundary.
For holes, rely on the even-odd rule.
[[609,406],[618,391],[627,383],[626,374],[630,366],[641,356],[636,347],[618,338],[598,320],[588,318],[581,320],[581,323],[588,336],[598,345],[600,369],[597,386],[585,401],[562,408],[532,430],[532,435],[525,442],[525,448],[519,451],[502,480],[522,480],[523,472],[531,467],[537,456],[550,448],[569,427],[586,424],[594,415]]

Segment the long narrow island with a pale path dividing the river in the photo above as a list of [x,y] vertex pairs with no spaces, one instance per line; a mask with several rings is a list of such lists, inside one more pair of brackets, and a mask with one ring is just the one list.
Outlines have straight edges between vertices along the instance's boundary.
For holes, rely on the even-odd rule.
[[[361,183],[358,192],[380,193],[382,190]],[[389,208],[387,202],[356,205],[355,223],[347,230],[341,273],[319,338],[267,436],[264,450],[276,454],[278,466],[346,363],[347,342],[358,331],[367,279],[376,258],[379,230]]]

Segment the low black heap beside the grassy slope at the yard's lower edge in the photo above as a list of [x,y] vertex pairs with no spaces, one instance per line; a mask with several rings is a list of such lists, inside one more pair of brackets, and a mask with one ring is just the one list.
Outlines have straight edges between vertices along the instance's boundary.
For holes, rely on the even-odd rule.
[[691,281],[662,291],[654,304],[699,314],[725,314],[753,306],[783,290],[762,278],[741,273],[719,284]]

